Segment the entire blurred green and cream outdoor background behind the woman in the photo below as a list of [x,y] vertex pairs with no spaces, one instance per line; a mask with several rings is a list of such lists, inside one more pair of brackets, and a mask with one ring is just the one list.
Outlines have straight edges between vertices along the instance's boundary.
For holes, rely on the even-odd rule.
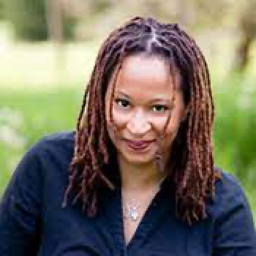
[[135,15],[180,23],[208,61],[216,165],[256,219],[256,1],[0,0],[0,195],[43,135],[74,129],[97,50]]

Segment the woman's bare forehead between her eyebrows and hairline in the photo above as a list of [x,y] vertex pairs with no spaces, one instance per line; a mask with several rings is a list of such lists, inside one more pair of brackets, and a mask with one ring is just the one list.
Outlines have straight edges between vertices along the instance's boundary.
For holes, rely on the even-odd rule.
[[[159,56],[135,55],[124,59],[116,79],[116,91],[147,97],[151,94],[171,94],[173,78],[170,64]],[[176,69],[175,69],[176,70]],[[178,72],[175,72],[178,82]]]

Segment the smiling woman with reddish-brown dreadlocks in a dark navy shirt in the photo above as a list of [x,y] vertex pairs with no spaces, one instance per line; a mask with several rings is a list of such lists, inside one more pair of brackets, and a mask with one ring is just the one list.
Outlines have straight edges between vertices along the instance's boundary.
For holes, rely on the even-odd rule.
[[99,50],[76,132],[42,139],[15,170],[0,255],[256,255],[244,192],[214,167],[213,121],[195,41],[129,20]]

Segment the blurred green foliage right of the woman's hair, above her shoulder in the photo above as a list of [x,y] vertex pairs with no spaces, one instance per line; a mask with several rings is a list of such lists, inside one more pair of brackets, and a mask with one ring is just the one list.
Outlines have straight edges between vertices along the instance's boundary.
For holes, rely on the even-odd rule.
[[217,160],[238,178],[256,181],[256,91],[254,81],[235,75],[216,89],[217,121],[215,144]]

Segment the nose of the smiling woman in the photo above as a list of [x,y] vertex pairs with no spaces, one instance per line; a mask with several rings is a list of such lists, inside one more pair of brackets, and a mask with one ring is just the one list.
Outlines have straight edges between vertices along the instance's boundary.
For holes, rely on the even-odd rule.
[[151,129],[145,113],[142,110],[136,110],[127,122],[127,129],[132,135],[144,135]]

